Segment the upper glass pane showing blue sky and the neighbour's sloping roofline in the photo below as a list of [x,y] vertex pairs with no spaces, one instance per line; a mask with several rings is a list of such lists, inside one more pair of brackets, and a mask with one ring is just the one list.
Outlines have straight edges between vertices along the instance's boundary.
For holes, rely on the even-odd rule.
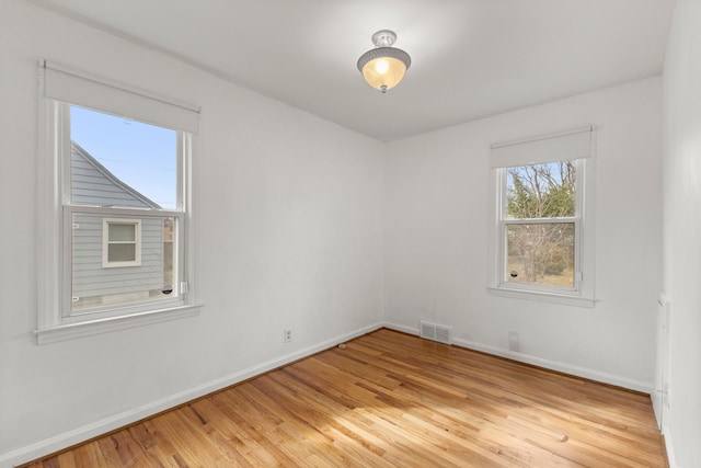
[[70,107],[71,203],[177,208],[177,132]]

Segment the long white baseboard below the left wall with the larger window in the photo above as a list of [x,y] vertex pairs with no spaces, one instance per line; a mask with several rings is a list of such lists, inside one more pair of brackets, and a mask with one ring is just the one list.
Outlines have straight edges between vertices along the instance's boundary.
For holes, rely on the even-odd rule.
[[161,398],[150,403],[142,404],[138,408],[134,408],[113,416],[95,421],[94,423],[77,427],[72,431],[58,434],[54,437],[39,441],[25,447],[21,447],[5,454],[0,454],[0,468],[9,468],[16,465],[25,464],[27,461],[32,461],[55,452],[65,449],[72,445],[80,444],[81,442],[88,441],[102,434],[106,434],[142,419],[152,416],[153,414],[158,414],[162,411],[177,407],[179,404],[186,403],[188,401],[204,397],[205,395],[212,393],[240,381],[246,380],[256,375],[264,374],[268,370],[281,367],[286,364],[310,356],[320,351],[327,350],[337,345],[338,343],[343,343],[344,341],[348,341],[356,336],[370,333],[382,328],[384,324],[382,322],[379,322],[369,327],[364,327],[350,333],[338,335],[331,340],[326,340],[313,346],[296,351],[295,353],[290,353],[279,358],[271,359],[261,365],[249,367],[239,373],[205,383],[185,391]]

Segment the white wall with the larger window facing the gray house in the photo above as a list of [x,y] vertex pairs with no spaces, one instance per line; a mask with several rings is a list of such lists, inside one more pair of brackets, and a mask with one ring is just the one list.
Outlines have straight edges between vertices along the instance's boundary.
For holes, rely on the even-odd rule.
[[[36,344],[39,58],[202,106],[199,317]],[[381,323],[382,144],[23,0],[0,98],[0,466]]]

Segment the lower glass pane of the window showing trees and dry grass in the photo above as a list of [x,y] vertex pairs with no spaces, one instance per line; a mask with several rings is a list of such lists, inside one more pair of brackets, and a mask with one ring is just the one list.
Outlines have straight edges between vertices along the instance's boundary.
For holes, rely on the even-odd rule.
[[506,282],[574,287],[574,222],[506,225]]

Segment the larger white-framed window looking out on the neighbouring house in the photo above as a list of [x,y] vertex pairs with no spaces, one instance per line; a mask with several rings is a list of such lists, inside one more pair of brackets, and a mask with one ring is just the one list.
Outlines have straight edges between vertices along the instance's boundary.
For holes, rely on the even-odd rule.
[[198,110],[43,61],[39,343],[197,313]]

